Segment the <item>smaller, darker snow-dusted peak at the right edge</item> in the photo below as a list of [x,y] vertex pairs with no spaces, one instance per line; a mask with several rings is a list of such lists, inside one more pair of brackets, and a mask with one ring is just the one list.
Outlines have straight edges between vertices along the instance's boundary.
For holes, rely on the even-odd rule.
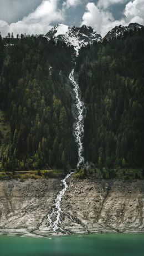
[[104,38],[106,38],[107,40],[110,40],[112,38],[116,38],[119,37],[121,35],[124,34],[124,32],[126,31],[130,31],[130,30],[138,30],[139,28],[142,28],[143,25],[140,25],[138,23],[130,23],[128,26],[116,26],[115,28],[111,29],[111,31],[109,31],[106,36]]

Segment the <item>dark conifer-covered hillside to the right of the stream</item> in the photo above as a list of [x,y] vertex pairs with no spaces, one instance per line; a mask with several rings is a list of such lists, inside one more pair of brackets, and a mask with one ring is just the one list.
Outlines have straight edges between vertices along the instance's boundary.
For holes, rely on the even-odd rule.
[[98,167],[144,164],[144,29],[82,48],[85,159]]

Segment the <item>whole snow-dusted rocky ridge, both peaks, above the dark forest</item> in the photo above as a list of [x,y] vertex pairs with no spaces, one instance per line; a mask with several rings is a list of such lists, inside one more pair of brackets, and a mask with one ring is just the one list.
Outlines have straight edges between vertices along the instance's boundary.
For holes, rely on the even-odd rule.
[[45,37],[48,39],[53,38],[55,41],[59,39],[64,41],[68,46],[74,46],[76,55],[78,55],[80,48],[87,46],[89,43],[102,42],[103,39],[109,41],[112,38],[123,36],[126,31],[134,31],[134,29],[138,30],[142,27],[143,25],[138,23],[130,23],[128,26],[115,26],[115,28],[112,28],[106,36],[102,38],[101,34],[97,33],[95,29],[90,26],[83,25],[81,27],[69,27],[59,23],[45,34]]

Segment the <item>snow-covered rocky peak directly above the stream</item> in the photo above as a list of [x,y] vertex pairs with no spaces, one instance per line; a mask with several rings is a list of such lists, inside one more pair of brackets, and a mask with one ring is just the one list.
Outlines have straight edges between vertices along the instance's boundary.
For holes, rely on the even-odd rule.
[[74,46],[76,54],[82,46],[86,46],[88,43],[94,41],[101,41],[100,34],[91,28],[83,25],[82,27],[69,27],[64,24],[58,24],[54,26],[46,35],[48,38],[55,40],[63,40],[69,46]]

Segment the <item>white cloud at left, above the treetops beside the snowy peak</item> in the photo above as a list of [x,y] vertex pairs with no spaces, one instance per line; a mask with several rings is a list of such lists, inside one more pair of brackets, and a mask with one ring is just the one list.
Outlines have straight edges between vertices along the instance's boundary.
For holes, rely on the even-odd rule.
[[63,21],[63,11],[58,9],[58,0],[44,0],[27,17],[22,21],[8,24],[7,22],[0,21],[0,31],[2,36],[6,36],[8,32],[14,33],[27,33],[27,34],[45,34],[51,28],[50,23]]

